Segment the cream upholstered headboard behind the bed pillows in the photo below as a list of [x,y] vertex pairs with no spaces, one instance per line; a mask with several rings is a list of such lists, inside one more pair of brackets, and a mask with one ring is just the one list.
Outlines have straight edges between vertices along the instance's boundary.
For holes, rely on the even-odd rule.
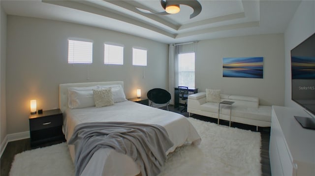
[[107,85],[122,85],[124,88],[123,81],[110,81],[110,82],[93,82],[93,83],[67,83],[59,85],[59,108],[62,112],[68,108],[68,89],[67,88],[79,88],[79,87],[90,87],[90,86],[107,86]]

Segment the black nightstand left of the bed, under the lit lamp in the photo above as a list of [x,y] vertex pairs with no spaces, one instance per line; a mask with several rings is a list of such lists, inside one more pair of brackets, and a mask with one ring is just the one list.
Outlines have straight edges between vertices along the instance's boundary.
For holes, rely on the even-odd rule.
[[65,141],[62,126],[63,113],[60,109],[32,114],[30,120],[31,147],[39,147],[48,142]]

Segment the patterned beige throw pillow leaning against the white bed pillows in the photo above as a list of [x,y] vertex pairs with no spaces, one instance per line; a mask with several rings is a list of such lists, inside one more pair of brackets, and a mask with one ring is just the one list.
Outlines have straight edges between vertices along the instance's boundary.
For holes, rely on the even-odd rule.
[[112,88],[93,90],[93,96],[97,108],[114,104]]

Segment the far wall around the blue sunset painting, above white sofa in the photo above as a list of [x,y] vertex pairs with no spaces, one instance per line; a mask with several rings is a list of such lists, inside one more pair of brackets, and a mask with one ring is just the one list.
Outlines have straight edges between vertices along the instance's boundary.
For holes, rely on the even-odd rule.
[[[263,57],[263,79],[222,77],[222,58]],[[284,36],[251,35],[198,42],[195,60],[198,91],[255,96],[262,105],[284,105]]]

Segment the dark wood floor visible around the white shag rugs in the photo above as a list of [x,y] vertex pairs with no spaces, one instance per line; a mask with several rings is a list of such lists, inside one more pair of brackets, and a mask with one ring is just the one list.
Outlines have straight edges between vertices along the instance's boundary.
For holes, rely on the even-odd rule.
[[[189,114],[187,112],[181,113],[177,108],[175,109],[173,106],[169,106],[169,110],[176,112],[176,113],[180,113],[180,114],[184,115],[185,117],[189,117]],[[193,115],[192,117],[200,119],[200,120],[204,120],[204,121],[210,121],[210,122],[217,123],[216,118],[203,117],[203,116],[199,116],[199,115]],[[221,120],[220,124],[228,125],[228,122]],[[231,126],[241,128],[241,129],[256,131],[256,127],[251,126],[251,125],[232,123]],[[258,131],[261,134],[261,153],[260,153],[260,156],[261,156],[262,176],[271,176],[270,161],[269,161],[270,128],[269,127],[266,127],[266,128],[259,127]],[[47,144],[44,144],[40,147],[45,147],[45,146],[49,146],[49,145],[56,144],[56,143],[59,143],[59,142],[47,143]],[[30,139],[23,139],[23,140],[9,142],[5,148],[2,156],[1,156],[0,176],[8,176],[9,175],[11,164],[13,162],[15,154],[26,151],[26,150],[30,150],[30,149],[31,149]]]

